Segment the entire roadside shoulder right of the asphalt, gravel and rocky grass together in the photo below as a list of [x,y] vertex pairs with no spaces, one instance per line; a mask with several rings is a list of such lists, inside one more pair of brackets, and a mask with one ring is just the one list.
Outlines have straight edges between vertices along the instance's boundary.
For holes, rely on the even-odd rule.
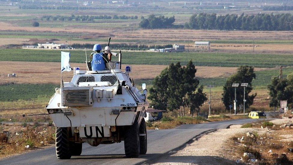
[[218,129],[155,164],[291,164],[292,159],[293,119],[276,119]]

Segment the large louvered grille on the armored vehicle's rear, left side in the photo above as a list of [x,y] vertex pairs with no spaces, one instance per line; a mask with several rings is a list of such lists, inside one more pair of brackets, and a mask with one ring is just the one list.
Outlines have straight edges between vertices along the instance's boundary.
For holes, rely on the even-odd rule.
[[63,106],[89,106],[90,90],[63,90]]

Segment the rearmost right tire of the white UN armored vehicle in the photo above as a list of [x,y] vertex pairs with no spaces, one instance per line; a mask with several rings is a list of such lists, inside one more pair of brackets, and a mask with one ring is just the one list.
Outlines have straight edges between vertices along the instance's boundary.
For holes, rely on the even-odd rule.
[[139,127],[137,121],[128,126],[124,135],[124,150],[126,157],[138,157],[140,153]]

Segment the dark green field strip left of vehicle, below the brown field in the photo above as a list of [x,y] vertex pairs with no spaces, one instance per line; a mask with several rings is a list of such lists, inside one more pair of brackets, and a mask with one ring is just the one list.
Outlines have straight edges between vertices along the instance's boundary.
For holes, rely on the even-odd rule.
[[31,100],[50,98],[56,84],[4,84],[0,85],[0,101]]

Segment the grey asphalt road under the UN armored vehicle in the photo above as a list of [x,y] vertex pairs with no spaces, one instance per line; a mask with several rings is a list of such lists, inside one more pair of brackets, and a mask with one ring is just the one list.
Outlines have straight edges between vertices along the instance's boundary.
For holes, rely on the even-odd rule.
[[[83,144],[81,156],[71,157],[70,160],[58,160],[55,148],[50,147],[38,151],[31,151],[25,154],[9,157],[0,160],[0,164],[141,164],[152,163],[157,159],[166,156],[170,151],[182,147],[189,140],[208,131],[220,128],[227,128],[232,124],[245,124],[255,122],[258,119],[240,119],[210,122],[205,124],[181,125],[172,130],[148,130],[148,151],[146,155],[139,158],[126,158],[124,155],[124,143],[110,145],[99,145],[92,147]],[[261,120],[261,119],[259,119]]]

